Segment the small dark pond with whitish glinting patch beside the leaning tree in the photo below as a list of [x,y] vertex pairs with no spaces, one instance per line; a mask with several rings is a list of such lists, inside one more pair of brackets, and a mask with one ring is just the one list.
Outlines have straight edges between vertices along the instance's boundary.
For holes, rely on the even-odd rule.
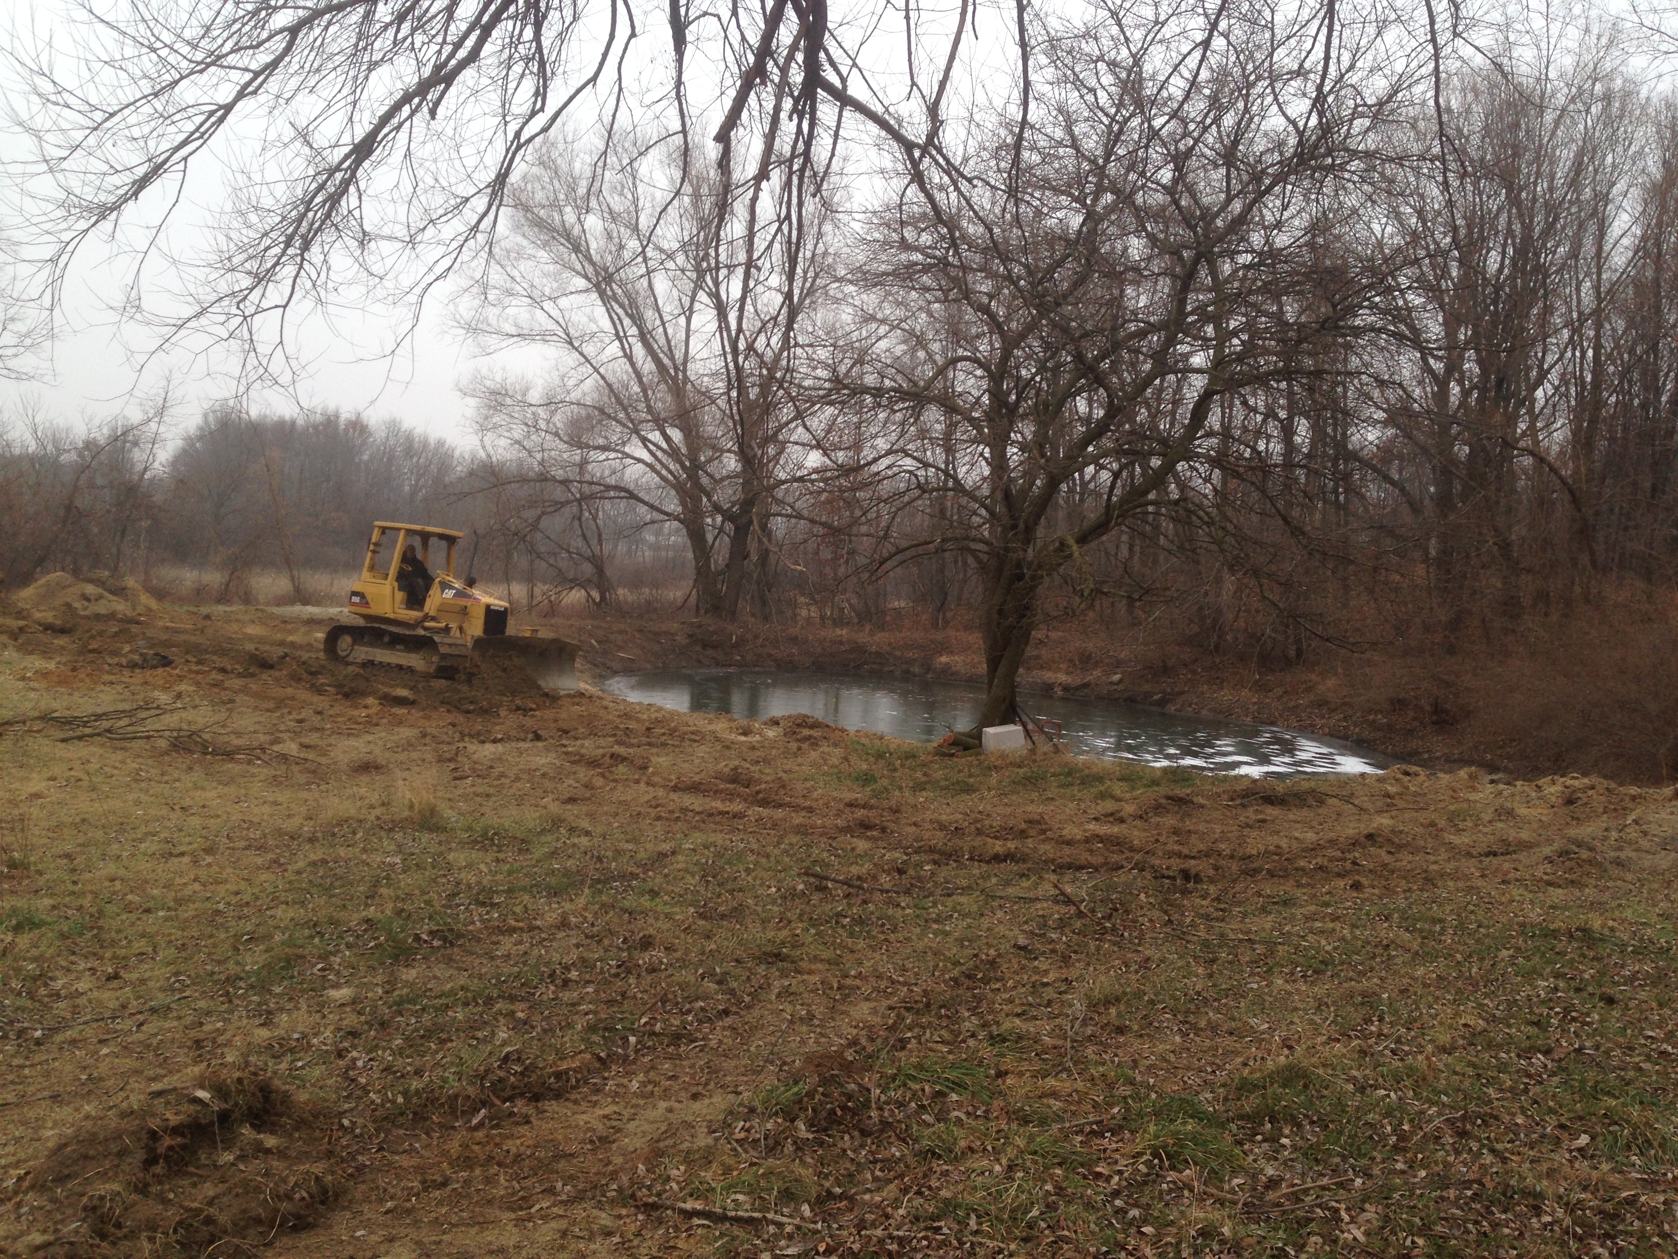
[[[782,670],[621,673],[602,683],[602,690],[680,712],[725,712],[758,720],[802,712],[849,730],[878,730],[915,742],[972,729],[985,693],[983,687],[967,682]],[[1248,777],[1376,774],[1394,764],[1391,757],[1339,739],[1139,703],[1020,692],[1020,707],[1034,717],[1062,722],[1064,739],[1077,755],[1109,760]]]

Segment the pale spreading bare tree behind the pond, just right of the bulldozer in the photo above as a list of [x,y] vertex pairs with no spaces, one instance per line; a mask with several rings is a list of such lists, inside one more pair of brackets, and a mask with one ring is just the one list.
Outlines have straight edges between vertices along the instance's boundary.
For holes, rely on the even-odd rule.
[[602,173],[554,148],[510,201],[473,331],[552,354],[545,381],[487,379],[480,430],[574,497],[678,525],[701,616],[742,611],[787,475],[799,326],[829,282],[821,205],[763,213],[784,153],[735,188],[671,146]]

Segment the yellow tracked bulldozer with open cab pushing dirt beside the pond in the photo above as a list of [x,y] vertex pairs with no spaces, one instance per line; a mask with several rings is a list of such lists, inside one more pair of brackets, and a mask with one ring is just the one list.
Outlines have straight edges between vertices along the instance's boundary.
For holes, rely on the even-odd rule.
[[361,624],[326,631],[326,655],[344,665],[396,665],[425,677],[472,680],[485,668],[522,666],[545,692],[577,690],[577,645],[507,633],[508,606],[455,577],[461,534],[378,520],[349,589]]

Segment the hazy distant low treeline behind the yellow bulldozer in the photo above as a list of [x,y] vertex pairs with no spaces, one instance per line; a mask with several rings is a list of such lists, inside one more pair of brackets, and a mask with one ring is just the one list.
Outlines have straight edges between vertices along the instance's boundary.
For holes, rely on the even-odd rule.
[[466,532],[460,562],[525,606],[574,591],[614,603],[611,577],[579,556],[651,574],[656,601],[685,579],[656,530],[606,507],[579,520],[527,480],[396,420],[337,411],[220,406],[185,428],[164,405],[92,426],[0,416],[0,576],[20,589],[55,571],[124,572],[220,601],[279,577],[297,603],[322,598],[322,582],[336,601],[371,522],[408,520]]

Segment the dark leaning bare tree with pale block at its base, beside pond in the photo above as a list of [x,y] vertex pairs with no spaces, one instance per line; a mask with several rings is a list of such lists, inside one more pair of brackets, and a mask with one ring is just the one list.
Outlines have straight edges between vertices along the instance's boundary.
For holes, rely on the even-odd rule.
[[1109,0],[1040,39],[963,149],[904,133],[876,270],[898,353],[857,386],[961,435],[953,465],[891,455],[965,504],[916,546],[982,572],[983,724],[1014,712],[1049,579],[1170,504],[1220,400],[1295,371],[1354,304],[1322,294],[1314,233],[1404,69],[1366,64],[1379,24],[1349,42],[1334,8]]

